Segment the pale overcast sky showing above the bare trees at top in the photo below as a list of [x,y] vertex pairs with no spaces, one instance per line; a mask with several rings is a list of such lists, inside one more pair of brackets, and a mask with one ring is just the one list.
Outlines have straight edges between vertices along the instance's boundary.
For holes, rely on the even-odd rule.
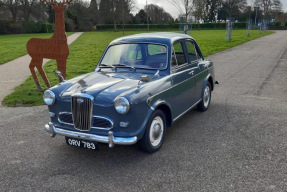
[[[136,7],[135,10],[133,10],[134,13],[137,13],[140,9],[143,9],[145,4],[146,4],[146,0],[134,0],[136,3]],[[180,1],[180,0],[178,0]],[[249,2],[251,2],[252,0],[248,0]],[[281,0],[282,4],[283,4],[283,8],[285,11],[287,11],[287,0]],[[148,4],[157,4],[158,6],[164,8],[164,10],[168,13],[171,14],[172,17],[177,18],[179,15],[179,11],[171,4],[169,3],[167,0],[147,0]]]

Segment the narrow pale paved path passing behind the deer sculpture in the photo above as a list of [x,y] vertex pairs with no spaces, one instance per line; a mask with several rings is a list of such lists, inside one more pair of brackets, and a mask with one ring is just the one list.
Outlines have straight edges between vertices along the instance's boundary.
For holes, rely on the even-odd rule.
[[[73,43],[82,32],[74,33],[68,37],[68,44]],[[46,64],[49,59],[44,59],[43,63]],[[23,81],[27,79],[31,75],[29,64],[31,62],[31,57],[27,54],[18,59],[10,61],[8,63],[0,65],[0,107],[1,101],[4,97],[11,92],[13,92],[14,88]]]

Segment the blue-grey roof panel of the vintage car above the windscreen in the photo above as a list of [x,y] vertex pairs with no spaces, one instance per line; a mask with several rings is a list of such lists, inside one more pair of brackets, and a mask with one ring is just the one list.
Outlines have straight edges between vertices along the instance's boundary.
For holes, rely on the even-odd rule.
[[170,45],[173,42],[180,39],[193,39],[189,35],[181,33],[171,33],[171,32],[158,32],[158,33],[140,33],[136,35],[129,35],[115,39],[110,43],[120,44],[120,43],[158,43]]

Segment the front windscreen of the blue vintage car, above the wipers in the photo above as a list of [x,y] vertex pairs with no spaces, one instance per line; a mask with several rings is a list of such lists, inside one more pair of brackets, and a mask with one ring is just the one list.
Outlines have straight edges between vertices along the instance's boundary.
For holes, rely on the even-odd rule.
[[167,47],[147,43],[113,45],[105,53],[101,66],[165,69],[167,66]]

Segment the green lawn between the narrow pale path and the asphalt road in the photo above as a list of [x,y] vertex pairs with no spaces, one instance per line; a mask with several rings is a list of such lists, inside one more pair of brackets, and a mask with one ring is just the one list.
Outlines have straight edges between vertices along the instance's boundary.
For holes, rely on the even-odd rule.
[[[128,31],[126,35],[135,33],[139,33],[139,31]],[[260,35],[258,31],[251,31],[251,36],[246,37],[245,30],[235,30],[232,42],[226,42],[225,30],[193,31],[192,36],[198,42],[203,55],[208,56],[271,33],[267,32]],[[67,79],[93,71],[105,47],[113,39],[121,36],[121,32],[86,32],[80,36],[70,46]],[[57,69],[56,62],[54,60],[48,62],[44,69],[51,85],[56,85],[58,83],[58,78],[54,75],[54,71]],[[39,79],[42,87],[46,88],[42,78]],[[30,76],[23,84],[16,87],[12,94],[6,96],[2,103],[10,107],[43,105],[42,96],[43,92],[37,91],[34,80]]]

